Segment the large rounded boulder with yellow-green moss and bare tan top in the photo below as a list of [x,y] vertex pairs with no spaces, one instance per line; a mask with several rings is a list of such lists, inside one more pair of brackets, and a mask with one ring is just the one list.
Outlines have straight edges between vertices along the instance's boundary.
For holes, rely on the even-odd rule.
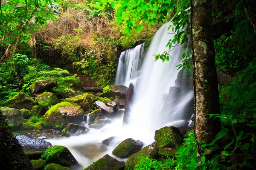
[[47,127],[62,129],[68,123],[80,124],[84,116],[83,109],[69,102],[61,102],[52,106],[44,114],[44,122]]

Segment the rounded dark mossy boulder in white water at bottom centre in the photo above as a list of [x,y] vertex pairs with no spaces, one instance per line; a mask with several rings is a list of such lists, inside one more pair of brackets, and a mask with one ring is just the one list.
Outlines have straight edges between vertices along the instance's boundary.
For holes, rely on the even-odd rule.
[[143,142],[132,138],[125,139],[114,150],[113,155],[119,158],[128,158],[132,154],[138,152],[143,146]]

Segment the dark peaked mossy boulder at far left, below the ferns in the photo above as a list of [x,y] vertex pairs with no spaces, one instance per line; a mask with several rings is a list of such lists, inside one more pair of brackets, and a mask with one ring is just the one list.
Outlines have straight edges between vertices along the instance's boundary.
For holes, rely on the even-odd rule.
[[24,93],[19,93],[11,99],[7,100],[3,106],[15,109],[27,109],[32,110],[32,107],[36,105],[35,101]]

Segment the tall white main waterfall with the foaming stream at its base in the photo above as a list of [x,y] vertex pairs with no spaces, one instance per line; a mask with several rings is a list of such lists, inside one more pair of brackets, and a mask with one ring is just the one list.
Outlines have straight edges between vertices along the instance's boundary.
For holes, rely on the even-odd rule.
[[[115,119],[111,124],[105,125],[99,130],[91,129],[90,132],[80,136],[47,139],[47,141],[53,145],[66,146],[75,156],[81,168],[84,168],[105,154],[115,157],[112,155],[113,149],[127,138],[141,140],[145,145],[148,145],[154,142],[155,130],[167,125],[178,126],[186,123],[187,120],[183,119],[182,111],[186,103],[193,97],[191,92],[186,93],[182,102],[171,108],[168,113],[167,111],[160,112],[166,107],[163,106],[164,96],[169,93],[170,87],[175,86],[175,79],[178,73],[176,65],[180,64],[180,57],[183,53],[183,46],[180,45],[170,52],[172,58],[169,62],[162,62],[160,59],[156,62],[154,61],[155,59],[152,55],[161,54],[168,50],[166,44],[174,36],[173,34],[168,34],[171,33],[171,31],[168,31],[169,25],[170,23],[166,23],[155,34],[143,61],[140,77],[138,77],[138,74],[133,77],[133,71],[130,69],[132,79],[139,79],[139,81],[134,89],[134,104],[131,107],[128,125],[123,126],[122,119]],[[133,66],[133,68],[135,67]],[[119,72],[121,71],[119,70]],[[137,72],[134,71],[134,73],[138,73],[138,70]],[[122,76],[119,78],[122,78],[123,85],[126,86],[132,81],[132,79],[126,79],[127,75],[128,73],[124,74],[124,72],[119,74],[119,76]],[[103,140],[112,136],[115,136],[115,139],[110,147],[105,147],[101,144]],[[125,159],[116,159],[125,161]]]

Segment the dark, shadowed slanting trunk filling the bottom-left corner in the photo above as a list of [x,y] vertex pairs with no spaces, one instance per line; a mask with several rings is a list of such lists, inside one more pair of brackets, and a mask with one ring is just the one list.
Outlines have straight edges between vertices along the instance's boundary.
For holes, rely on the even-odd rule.
[[0,165],[5,170],[34,170],[0,112]]

